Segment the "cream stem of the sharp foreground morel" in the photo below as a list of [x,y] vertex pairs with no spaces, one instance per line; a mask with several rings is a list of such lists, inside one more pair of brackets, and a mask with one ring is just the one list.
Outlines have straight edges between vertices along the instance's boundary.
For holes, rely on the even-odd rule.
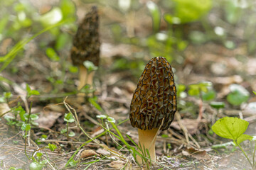
[[[149,157],[153,162],[156,162],[156,152],[155,152],[155,143],[156,143],[156,135],[158,132],[158,128],[153,128],[151,130],[141,130],[138,128],[139,133],[139,144],[142,147],[143,155]],[[149,150],[149,155],[144,150]],[[140,152],[140,151],[139,151]],[[137,155],[137,161],[139,164],[142,164],[142,158]],[[152,162],[152,163],[153,163]]]

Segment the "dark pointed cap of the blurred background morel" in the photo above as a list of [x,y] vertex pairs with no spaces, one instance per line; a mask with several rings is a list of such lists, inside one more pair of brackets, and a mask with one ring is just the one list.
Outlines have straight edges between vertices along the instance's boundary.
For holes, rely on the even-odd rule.
[[97,7],[92,6],[89,13],[85,15],[78,31],[73,39],[71,48],[71,59],[74,65],[83,64],[86,60],[99,65],[100,62],[100,40],[98,33]]

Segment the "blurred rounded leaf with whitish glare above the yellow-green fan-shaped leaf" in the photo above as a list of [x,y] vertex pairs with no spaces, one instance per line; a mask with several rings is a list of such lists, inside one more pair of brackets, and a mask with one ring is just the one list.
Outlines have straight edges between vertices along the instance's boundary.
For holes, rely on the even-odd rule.
[[241,103],[246,102],[250,97],[249,92],[238,84],[231,84],[229,89],[230,94],[228,94],[227,100],[234,106],[240,106]]

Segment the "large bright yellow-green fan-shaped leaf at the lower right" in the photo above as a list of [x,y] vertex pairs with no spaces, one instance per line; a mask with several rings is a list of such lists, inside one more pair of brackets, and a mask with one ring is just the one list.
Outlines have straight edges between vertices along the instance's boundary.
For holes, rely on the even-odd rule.
[[224,117],[214,123],[212,130],[220,137],[236,141],[245,132],[248,125],[247,121],[240,118]]

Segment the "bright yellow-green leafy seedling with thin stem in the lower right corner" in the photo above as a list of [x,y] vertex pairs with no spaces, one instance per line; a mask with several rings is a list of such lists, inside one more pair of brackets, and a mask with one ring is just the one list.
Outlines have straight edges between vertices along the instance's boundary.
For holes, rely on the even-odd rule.
[[233,117],[224,117],[218,120],[213,126],[212,130],[220,137],[224,137],[230,140],[233,140],[236,146],[238,146],[242,153],[245,155],[247,161],[252,166],[252,169],[255,169],[255,150],[256,150],[256,143],[255,149],[252,154],[252,162],[250,161],[249,157],[245,153],[244,149],[240,146],[240,143],[245,140],[252,140],[252,136],[244,134],[245,130],[247,130],[249,123],[245,120],[240,118],[233,118]]

